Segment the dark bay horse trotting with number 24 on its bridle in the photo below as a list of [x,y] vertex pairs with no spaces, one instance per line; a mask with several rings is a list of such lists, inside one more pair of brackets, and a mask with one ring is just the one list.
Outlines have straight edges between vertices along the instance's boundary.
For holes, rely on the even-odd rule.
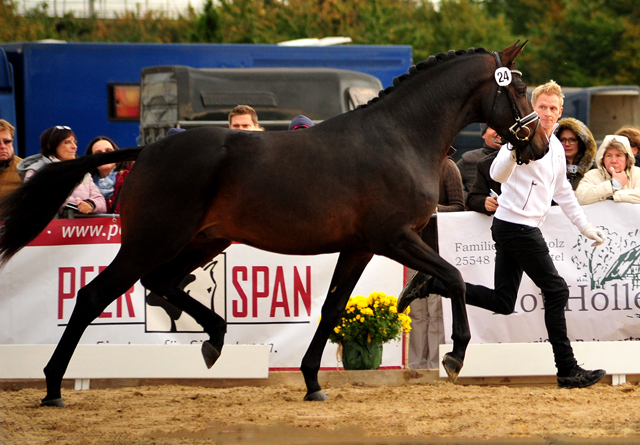
[[[44,369],[47,395],[41,404],[64,406],[60,385],[84,330],[138,280],[202,325],[209,335],[202,352],[211,367],[222,351],[226,323],[179,284],[232,242],[283,254],[340,252],[322,321],[300,367],[305,400],[327,398],[317,378],[320,359],[374,254],[448,284],[453,351],[443,363],[455,380],[470,339],[465,284],[418,232],[438,202],[440,163],[466,125],[486,122],[512,143],[518,162],[548,151],[521,73],[513,70],[523,47],[516,42],[500,53],[472,48],[432,56],[366,106],[307,130],[196,128],[39,171],[0,207],[2,262],[46,227],[86,172],[136,159],[120,200],[120,251],[78,292]],[[499,67],[510,83],[497,83]]]

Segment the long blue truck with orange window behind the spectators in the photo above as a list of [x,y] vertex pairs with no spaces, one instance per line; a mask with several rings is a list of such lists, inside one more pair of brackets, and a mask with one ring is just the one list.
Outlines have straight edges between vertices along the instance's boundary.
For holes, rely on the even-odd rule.
[[38,153],[40,135],[54,125],[74,130],[79,154],[98,135],[121,147],[145,143],[139,117],[145,68],[338,69],[374,76],[387,87],[412,64],[410,46],[21,42],[0,48],[0,118],[16,126],[21,157]]

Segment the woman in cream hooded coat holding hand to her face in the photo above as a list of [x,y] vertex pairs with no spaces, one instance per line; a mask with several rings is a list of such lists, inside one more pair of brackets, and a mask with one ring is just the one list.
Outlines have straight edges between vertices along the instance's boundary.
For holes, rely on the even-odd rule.
[[596,154],[598,168],[588,171],[576,190],[580,204],[593,204],[605,199],[640,203],[640,167],[634,164],[629,139],[618,135],[606,136]]

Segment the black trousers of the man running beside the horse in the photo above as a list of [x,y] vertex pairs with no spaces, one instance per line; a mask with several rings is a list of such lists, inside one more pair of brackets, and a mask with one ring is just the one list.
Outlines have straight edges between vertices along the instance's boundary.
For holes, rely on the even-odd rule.
[[[549,248],[537,227],[493,219],[491,234],[496,242],[495,289],[467,283],[467,304],[499,314],[513,313],[518,288],[525,272],[542,291],[544,322],[553,348],[556,367],[565,374],[577,363],[567,337],[564,311],[569,288],[549,255]],[[435,280],[433,292],[448,296],[446,288]]]

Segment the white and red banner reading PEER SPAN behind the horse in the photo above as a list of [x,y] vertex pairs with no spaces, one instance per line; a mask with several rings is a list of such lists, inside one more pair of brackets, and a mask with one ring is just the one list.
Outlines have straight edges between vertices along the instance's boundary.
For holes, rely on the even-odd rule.
[[[57,343],[77,291],[111,262],[119,243],[116,218],[52,221],[0,271],[0,344]],[[227,320],[226,344],[269,344],[271,369],[298,368],[337,259],[338,254],[277,255],[234,244],[181,286]],[[354,295],[397,296],[403,276],[400,264],[374,257]],[[138,282],[91,323],[81,343],[191,344],[207,338],[190,316]],[[336,350],[327,344],[323,368],[337,366]],[[382,366],[401,365],[401,342],[386,344]]]

